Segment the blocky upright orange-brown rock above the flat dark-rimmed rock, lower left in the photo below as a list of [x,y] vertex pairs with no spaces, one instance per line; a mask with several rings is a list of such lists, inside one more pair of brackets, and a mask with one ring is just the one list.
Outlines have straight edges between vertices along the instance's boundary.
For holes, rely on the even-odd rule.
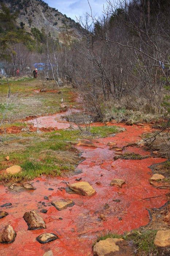
[[27,222],[28,230],[46,229],[44,220],[36,211],[26,212],[23,218]]

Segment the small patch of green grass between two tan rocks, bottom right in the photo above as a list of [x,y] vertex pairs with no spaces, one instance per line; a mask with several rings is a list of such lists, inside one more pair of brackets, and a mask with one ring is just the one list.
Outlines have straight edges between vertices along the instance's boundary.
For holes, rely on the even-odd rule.
[[[124,235],[111,234],[97,237],[97,241],[105,240],[107,238],[123,238],[124,240],[132,240],[136,245],[136,251],[138,256],[154,255],[153,253],[158,253],[157,248],[154,246],[154,238],[157,234],[157,230],[132,230],[130,232],[125,232]],[[93,244],[95,245],[96,242]],[[155,254],[156,255],[156,254]]]

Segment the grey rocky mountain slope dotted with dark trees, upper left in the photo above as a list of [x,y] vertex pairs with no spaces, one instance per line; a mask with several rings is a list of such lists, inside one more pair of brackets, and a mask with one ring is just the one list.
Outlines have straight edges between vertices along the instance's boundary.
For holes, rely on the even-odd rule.
[[39,30],[45,27],[47,30],[53,29],[60,33],[62,27],[68,26],[75,31],[80,30],[81,26],[73,19],[63,15],[55,8],[49,7],[42,0],[4,0],[3,1],[11,10],[11,12],[19,11],[17,25],[23,22],[26,31],[30,32],[31,27],[36,27]]

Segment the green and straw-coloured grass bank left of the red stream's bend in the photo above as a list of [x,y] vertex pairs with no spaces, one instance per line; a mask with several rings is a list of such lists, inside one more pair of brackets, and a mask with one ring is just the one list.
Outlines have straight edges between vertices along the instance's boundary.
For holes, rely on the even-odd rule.
[[[58,176],[63,170],[74,171],[80,162],[79,151],[74,147],[80,138],[98,138],[118,132],[117,126],[92,127],[91,134],[79,130],[59,130],[61,136],[51,133],[20,133],[2,137],[0,145],[0,170],[19,165],[23,171],[15,175],[0,174],[0,181],[14,179],[22,181],[40,175]],[[9,155],[9,162],[4,161]]]

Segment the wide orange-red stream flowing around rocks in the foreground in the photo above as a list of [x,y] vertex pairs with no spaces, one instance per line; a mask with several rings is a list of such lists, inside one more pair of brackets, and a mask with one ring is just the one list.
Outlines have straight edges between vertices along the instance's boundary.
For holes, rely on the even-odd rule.
[[[92,256],[92,244],[98,236],[108,231],[122,234],[125,230],[137,229],[150,222],[148,209],[160,208],[167,202],[167,198],[160,196],[143,199],[165,194],[167,190],[162,191],[150,185],[152,171],[148,167],[164,162],[165,159],[151,156],[143,160],[114,161],[115,152],[109,150],[108,142],[116,142],[117,146],[122,147],[139,141],[139,135],[152,130],[150,126],[119,125],[125,127],[126,131],[114,137],[98,139],[97,148],[77,146],[85,157],[77,167],[82,173],[36,178],[31,182],[36,190],[13,192],[0,186],[0,205],[12,203],[11,207],[1,208],[9,215],[0,219],[0,232],[9,224],[17,234],[11,244],[0,244],[1,256],[43,256],[49,250],[52,250],[54,256]],[[142,148],[129,147],[128,151],[141,155],[151,154]],[[80,194],[68,194],[65,189],[61,189],[67,186],[63,180],[72,184],[77,178],[89,182],[97,193],[88,198]],[[109,185],[114,178],[125,181],[123,188]],[[96,182],[101,184],[97,185]],[[44,196],[49,197],[49,200],[45,200]],[[75,205],[58,211],[50,202],[61,199],[72,199]],[[105,204],[109,207],[104,207]],[[47,209],[46,214],[40,212],[43,208]],[[31,210],[42,216],[46,229],[27,230],[23,215]],[[100,214],[104,214],[107,220],[101,220]],[[47,244],[36,241],[36,237],[46,232],[57,234],[59,239]]]

